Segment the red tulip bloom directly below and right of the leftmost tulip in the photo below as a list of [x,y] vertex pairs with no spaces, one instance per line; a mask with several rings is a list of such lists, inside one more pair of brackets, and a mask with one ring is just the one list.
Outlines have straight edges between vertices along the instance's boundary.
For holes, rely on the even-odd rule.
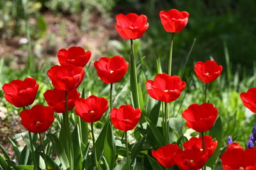
[[54,121],[54,114],[51,107],[44,107],[36,104],[30,110],[23,110],[20,113],[20,123],[29,132],[42,133],[49,129]]

